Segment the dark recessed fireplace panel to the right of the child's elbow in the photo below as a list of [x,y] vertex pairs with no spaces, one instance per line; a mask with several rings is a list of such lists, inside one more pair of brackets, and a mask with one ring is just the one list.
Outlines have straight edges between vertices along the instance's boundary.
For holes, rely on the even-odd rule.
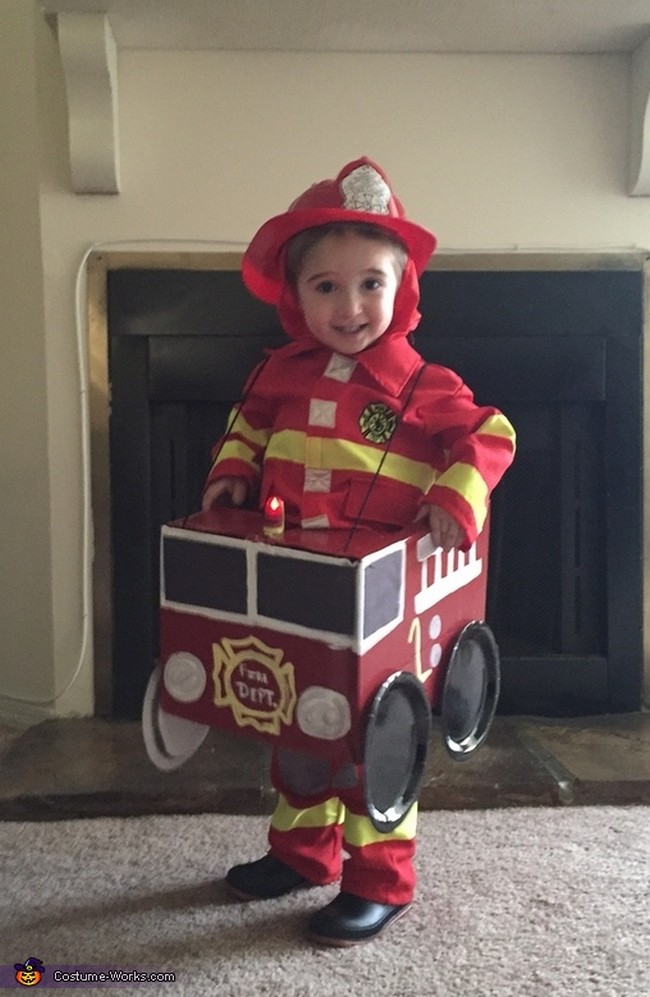
[[488,617],[501,654],[604,659],[602,409],[513,406],[511,415],[532,444],[494,498]]

